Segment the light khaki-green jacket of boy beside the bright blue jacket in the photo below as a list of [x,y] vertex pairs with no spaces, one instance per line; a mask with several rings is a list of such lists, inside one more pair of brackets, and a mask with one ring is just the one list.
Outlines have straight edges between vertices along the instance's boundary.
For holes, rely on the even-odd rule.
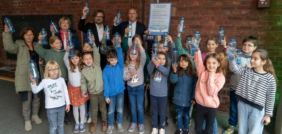
[[[91,95],[104,91],[103,73],[100,66],[100,54],[96,46],[93,46],[93,64],[83,67],[81,71],[81,92],[86,91],[86,85]],[[88,82],[88,83],[87,83]]]

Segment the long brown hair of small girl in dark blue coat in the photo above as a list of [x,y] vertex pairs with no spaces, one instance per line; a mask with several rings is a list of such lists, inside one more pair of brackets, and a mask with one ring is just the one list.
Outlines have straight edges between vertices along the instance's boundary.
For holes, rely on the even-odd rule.
[[[183,61],[187,61],[188,62],[188,68],[186,69],[185,73],[189,76],[189,77],[194,77],[196,75],[195,70],[193,68],[192,62],[190,60],[190,58],[188,57],[187,54],[182,54],[179,56],[179,60],[178,62],[180,62],[180,60]],[[180,65],[178,65],[178,76],[183,76],[184,75],[184,69],[180,67]]]

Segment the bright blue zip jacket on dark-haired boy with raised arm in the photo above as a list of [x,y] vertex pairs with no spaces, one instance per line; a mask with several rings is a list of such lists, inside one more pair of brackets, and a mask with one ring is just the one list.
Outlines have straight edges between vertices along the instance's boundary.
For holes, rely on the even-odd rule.
[[117,95],[124,91],[124,81],[122,78],[124,68],[124,59],[122,49],[117,49],[117,63],[114,66],[106,65],[103,70],[104,81],[104,96],[108,99],[109,96]]

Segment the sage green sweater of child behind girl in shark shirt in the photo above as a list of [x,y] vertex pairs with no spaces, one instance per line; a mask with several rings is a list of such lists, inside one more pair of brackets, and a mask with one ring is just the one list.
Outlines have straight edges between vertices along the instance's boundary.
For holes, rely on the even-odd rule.
[[64,80],[68,80],[67,79],[67,67],[64,62],[64,56],[65,56],[66,50],[61,49],[61,51],[57,51],[53,48],[44,49],[42,47],[42,44],[37,43],[35,47],[35,51],[39,56],[44,58],[46,63],[51,60],[56,61],[59,64],[60,69],[61,69],[61,73],[62,73],[61,77],[63,77]]

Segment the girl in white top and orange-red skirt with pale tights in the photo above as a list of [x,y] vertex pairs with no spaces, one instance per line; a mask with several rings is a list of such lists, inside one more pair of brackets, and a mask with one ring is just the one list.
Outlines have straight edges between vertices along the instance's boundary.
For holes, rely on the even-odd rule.
[[[74,133],[77,132],[84,132],[85,125],[84,125],[84,116],[85,116],[85,108],[84,103],[89,99],[89,97],[83,98],[80,89],[80,78],[81,78],[81,70],[83,68],[81,55],[78,50],[74,51],[74,57],[69,57],[69,50],[70,46],[66,47],[66,54],[64,56],[64,62],[67,66],[68,76],[69,76],[69,96],[70,96],[70,104],[73,106],[73,113],[74,113]],[[78,121],[79,113],[78,108],[80,111],[80,123]]]

